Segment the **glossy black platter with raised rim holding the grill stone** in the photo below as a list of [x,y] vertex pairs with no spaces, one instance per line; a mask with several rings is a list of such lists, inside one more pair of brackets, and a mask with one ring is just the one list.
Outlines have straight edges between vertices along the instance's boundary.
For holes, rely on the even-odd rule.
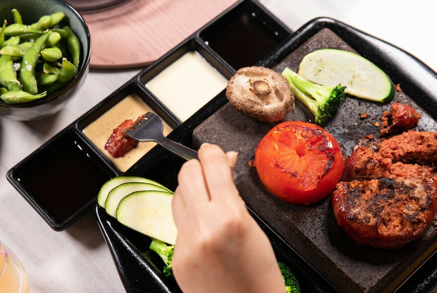
[[[340,36],[358,53],[381,67],[389,76],[396,76],[395,82],[401,84],[403,92],[412,97],[420,107],[436,119],[437,74],[435,72],[401,49],[333,19],[318,18],[308,22],[273,50],[259,65],[277,66],[291,52],[324,28],[329,28]],[[208,107],[204,109],[205,112],[199,111],[193,115],[169,137],[192,147],[193,130],[218,111],[225,102],[225,95],[222,92],[208,104]],[[177,184],[176,176],[182,163],[183,161],[179,158],[156,147],[125,174],[156,179],[174,189]],[[348,292],[344,291],[344,287],[340,284],[341,280],[331,279],[330,283],[326,281],[326,276],[318,273],[314,262],[310,265],[272,229],[268,222],[261,220],[252,210],[250,212],[269,236],[278,259],[291,266],[301,283],[302,292]],[[120,225],[98,206],[95,208],[95,214],[128,292],[180,292],[173,281],[165,279],[160,274],[161,261],[155,261],[149,255],[143,254],[147,251],[150,242],[148,237]],[[425,258],[420,260],[422,266],[417,268],[417,271],[409,271],[408,276],[403,276],[405,281],[403,284],[397,284],[396,282],[399,281],[396,280],[394,282],[396,286],[384,284],[386,287],[378,289],[377,292],[427,293],[433,291],[437,286],[436,260],[437,254],[435,254],[433,245]]]

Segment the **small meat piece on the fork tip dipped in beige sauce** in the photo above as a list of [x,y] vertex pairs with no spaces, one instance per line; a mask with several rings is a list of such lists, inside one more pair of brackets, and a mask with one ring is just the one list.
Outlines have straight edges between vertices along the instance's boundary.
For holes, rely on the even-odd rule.
[[132,119],[123,121],[109,137],[108,142],[105,145],[105,149],[114,158],[119,158],[124,156],[128,151],[138,146],[138,141],[131,138],[125,131],[134,125]]

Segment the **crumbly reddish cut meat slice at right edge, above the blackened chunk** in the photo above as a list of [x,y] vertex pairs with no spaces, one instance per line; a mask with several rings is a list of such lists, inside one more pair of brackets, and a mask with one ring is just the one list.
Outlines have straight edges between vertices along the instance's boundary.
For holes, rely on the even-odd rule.
[[409,130],[383,140],[379,144],[379,153],[393,162],[435,166],[437,163],[437,132]]

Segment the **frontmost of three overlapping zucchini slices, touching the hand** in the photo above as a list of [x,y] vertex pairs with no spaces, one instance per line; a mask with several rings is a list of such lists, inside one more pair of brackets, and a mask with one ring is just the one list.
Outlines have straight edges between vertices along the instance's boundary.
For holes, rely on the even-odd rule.
[[120,201],[117,220],[149,237],[174,244],[177,229],[171,211],[172,199],[173,194],[164,191],[131,193]]

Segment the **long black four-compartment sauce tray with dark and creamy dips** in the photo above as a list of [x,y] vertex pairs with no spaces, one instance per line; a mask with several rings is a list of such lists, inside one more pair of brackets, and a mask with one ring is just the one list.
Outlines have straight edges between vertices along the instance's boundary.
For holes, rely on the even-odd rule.
[[[201,38],[201,34],[203,32],[214,32],[214,28],[209,27],[214,26],[217,22],[236,23],[235,19],[244,19],[243,22],[240,22],[242,26],[247,21],[252,26],[255,24],[258,31],[271,36],[271,39],[274,40],[270,40],[266,44],[263,42],[257,43],[257,46],[263,46],[266,49],[259,51],[258,55],[253,56],[254,59],[248,61],[251,62],[247,64],[248,66],[262,60],[268,52],[273,50],[282,40],[291,34],[291,30],[258,3],[258,1],[237,1],[226,11],[218,15],[216,19],[212,20],[205,28],[201,28],[181,42],[159,60],[122,85],[114,93],[92,107],[59,134],[13,166],[6,174],[9,182],[53,229],[63,230],[68,227],[93,205],[102,183],[116,175],[123,174],[93,145],[91,140],[83,134],[83,130],[128,95],[140,97],[174,129],[169,138],[179,143],[187,144],[188,140],[185,133],[190,132],[190,130],[192,131],[196,125],[214,113],[225,103],[225,99],[214,99],[212,97],[210,102],[182,123],[168,109],[167,105],[163,104],[146,88],[145,84],[179,57],[190,51],[199,53],[225,78],[230,78],[234,69],[228,63],[227,57],[224,56],[223,58],[218,55],[208,45],[208,41]],[[250,29],[252,32],[252,26],[246,29]],[[232,29],[232,25],[226,28],[216,27],[215,29]],[[229,44],[229,46],[231,45],[235,47],[235,44]],[[128,118],[132,119],[133,117],[127,117],[126,119]],[[64,162],[68,162],[68,164]],[[130,172],[135,173],[135,170],[141,170],[142,168],[141,161],[138,161],[131,167]],[[89,174],[79,171],[84,169],[89,169],[90,172],[93,172],[96,180],[91,182]],[[59,174],[69,173],[71,176],[59,176]],[[157,178],[157,181],[160,180]],[[75,194],[81,194],[80,201],[77,201],[77,198],[74,196]],[[71,209],[62,210],[62,205],[69,205]]]

